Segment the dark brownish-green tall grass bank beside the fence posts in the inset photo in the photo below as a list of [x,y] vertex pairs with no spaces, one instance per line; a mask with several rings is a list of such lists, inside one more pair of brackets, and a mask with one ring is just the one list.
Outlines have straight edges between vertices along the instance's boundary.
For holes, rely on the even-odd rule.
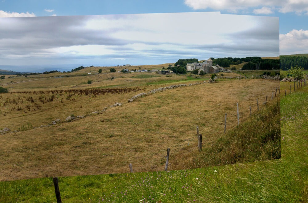
[[269,104],[221,136],[194,160],[194,168],[281,157],[280,103]]

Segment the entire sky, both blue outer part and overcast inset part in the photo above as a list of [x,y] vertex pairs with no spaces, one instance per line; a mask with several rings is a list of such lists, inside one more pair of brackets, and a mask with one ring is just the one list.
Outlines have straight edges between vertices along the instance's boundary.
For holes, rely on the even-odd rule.
[[0,0],[0,17],[3,65],[308,53],[308,0]]

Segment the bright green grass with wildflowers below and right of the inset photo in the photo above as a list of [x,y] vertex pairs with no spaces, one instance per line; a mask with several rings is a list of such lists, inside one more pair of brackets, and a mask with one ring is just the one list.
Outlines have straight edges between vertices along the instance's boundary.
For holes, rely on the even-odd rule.
[[[59,177],[62,201],[308,202],[308,90],[303,89],[281,97],[281,159],[168,172]],[[52,178],[0,182],[0,202],[56,202]]]

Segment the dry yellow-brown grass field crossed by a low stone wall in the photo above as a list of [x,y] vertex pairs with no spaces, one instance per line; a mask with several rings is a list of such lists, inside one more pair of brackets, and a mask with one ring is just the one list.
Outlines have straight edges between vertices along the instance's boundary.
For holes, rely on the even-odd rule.
[[[0,135],[0,181],[126,173],[129,163],[134,172],[163,170],[167,148],[170,148],[168,169],[190,168],[193,155],[198,152],[196,126],[203,136],[203,146],[210,146],[223,133],[225,113],[228,131],[237,125],[237,103],[240,122],[243,122],[249,116],[249,106],[253,112],[257,111],[256,99],[262,108],[266,95],[271,102],[272,92],[279,88],[278,81],[265,79],[220,79],[217,83],[157,92],[128,103],[129,98],[141,92],[172,84],[203,82],[210,75],[166,77],[142,72],[110,73],[110,67],[102,68],[101,74],[97,72],[99,67],[91,67],[74,73],[0,81],[0,86],[10,91],[0,94],[0,129],[7,127],[16,131]],[[116,69],[119,71],[122,67]],[[57,77],[59,74],[69,77]],[[18,83],[25,80],[31,81]],[[87,84],[88,80],[92,83]],[[47,92],[115,87],[139,89],[107,95]],[[52,96],[53,101],[46,102]],[[42,98],[46,98],[44,104],[39,101]],[[111,108],[115,102],[123,105]],[[22,109],[17,110],[18,107]],[[101,114],[92,113],[105,107],[108,109]],[[66,122],[65,118],[71,115],[86,117]],[[51,125],[55,119],[61,122]],[[41,125],[50,126],[34,128]]]

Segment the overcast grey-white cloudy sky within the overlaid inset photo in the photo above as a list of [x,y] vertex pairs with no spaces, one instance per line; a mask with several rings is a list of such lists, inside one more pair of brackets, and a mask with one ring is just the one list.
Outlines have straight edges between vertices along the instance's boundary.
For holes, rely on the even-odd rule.
[[277,17],[197,12],[0,18],[4,65],[144,65],[278,55]]

